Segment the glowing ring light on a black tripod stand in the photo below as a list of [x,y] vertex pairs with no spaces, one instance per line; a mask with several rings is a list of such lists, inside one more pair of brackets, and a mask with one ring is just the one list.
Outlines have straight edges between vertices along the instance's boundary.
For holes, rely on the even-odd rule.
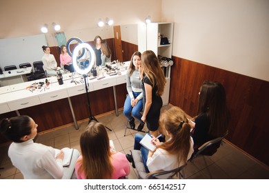
[[[77,38],[74,39],[74,40],[77,40]],[[88,43],[81,43],[81,42],[79,43],[79,45],[76,46],[76,48],[74,48],[74,51],[72,53],[72,63],[73,63],[73,66],[74,66],[74,70],[76,72],[78,72],[79,74],[82,74],[83,75],[83,78],[84,78],[86,96],[87,96],[87,101],[88,101],[88,110],[89,110],[89,114],[90,114],[89,115],[89,122],[88,123],[90,123],[90,121],[92,121],[92,120],[97,121],[97,119],[92,114],[92,110],[90,108],[90,97],[88,95],[89,84],[87,85],[87,83],[86,83],[86,81],[87,81],[86,77],[88,77],[87,74],[88,74],[88,72],[90,72],[90,70],[92,69],[92,66],[94,65],[95,53],[92,50],[92,47]],[[68,48],[69,48],[69,46],[68,46]],[[81,54],[79,54],[79,50],[81,50],[81,49],[83,49],[83,52]],[[78,59],[80,59],[81,57],[83,57],[84,52],[88,52],[88,51],[90,52],[90,59],[89,59],[90,60],[90,63],[89,63],[89,65],[88,65],[87,68],[81,69],[81,68],[79,68],[79,65],[77,65]],[[70,54],[70,50],[69,50],[68,54]],[[99,122],[99,121],[97,121],[97,122]],[[110,130],[110,128],[108,128],[108,127],[106,127],[106,128],[108,130]],[[112,130],[110,130],[110,131],[112,131]]]

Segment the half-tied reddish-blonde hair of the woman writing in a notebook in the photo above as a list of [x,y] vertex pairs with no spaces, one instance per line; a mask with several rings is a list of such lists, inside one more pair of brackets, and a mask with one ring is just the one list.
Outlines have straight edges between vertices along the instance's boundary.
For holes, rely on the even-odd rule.
[[169,154],[176,154],[178,163],[185,164],[190,151],[190,125],[186,113],[176,106],[161,114],[160,126],[167,130],[171,139],[157,146]]

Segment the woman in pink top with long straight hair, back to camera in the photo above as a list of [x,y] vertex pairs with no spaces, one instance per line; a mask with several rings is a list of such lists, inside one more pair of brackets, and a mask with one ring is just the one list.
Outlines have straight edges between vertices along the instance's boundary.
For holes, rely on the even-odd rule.
[[90,123],[80,137],[81,156],[77,159],[77,179],[123,179],[130,174],[125,154],[110,150],[106,127]]

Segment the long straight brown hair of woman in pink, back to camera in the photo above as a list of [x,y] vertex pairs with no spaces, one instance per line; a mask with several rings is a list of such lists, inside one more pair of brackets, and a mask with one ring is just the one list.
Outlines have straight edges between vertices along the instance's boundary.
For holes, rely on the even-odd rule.
[[87,179],[110,179],[112,163],[108,133],[101,123],[90,123],[80,137],[81,167]]

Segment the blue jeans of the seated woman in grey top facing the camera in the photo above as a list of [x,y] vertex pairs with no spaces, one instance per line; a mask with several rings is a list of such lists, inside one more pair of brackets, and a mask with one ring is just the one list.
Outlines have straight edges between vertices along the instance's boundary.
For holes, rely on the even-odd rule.
[[[134,94],[135,99],[141,92],[132,92]],[[143,108],[143,100],[139,100],[137,102],[137,105],[135,107],[132,107],[131,105],[131,99],[128,95],[126,97],[126,100],[124,102],[124,108],[123,108],[123,114],[128,118],[129,121],[132,120],[132,115],[135,116],[135,119],[137,119],[140,123],[143,123],[141,121],[142,114],[140,113]]]

